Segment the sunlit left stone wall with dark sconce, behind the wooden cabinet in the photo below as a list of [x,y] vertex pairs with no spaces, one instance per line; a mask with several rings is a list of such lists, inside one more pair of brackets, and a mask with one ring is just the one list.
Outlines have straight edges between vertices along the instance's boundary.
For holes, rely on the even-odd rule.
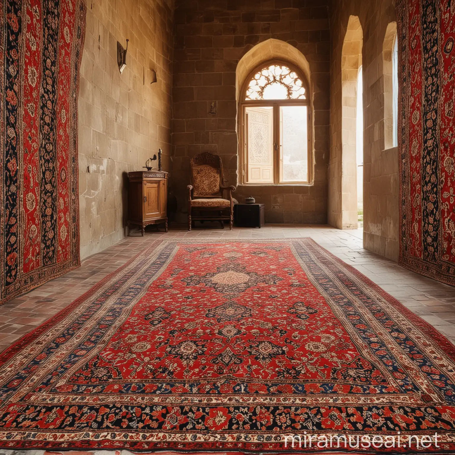
[[[79,93],[81,257],[125,235],[127,177],[171,155],[172,0],[88,0]],[[126,69],[117,41],[129,39]],[[151,70],[157,83],[150,84]]]

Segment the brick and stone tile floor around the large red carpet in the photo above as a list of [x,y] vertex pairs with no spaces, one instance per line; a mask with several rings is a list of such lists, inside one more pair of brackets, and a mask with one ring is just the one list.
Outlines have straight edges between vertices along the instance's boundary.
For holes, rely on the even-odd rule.
[[[155,228],[156,229],[156,228]],[[139,253],[147,243],[167,238],[298,238],[311,237],[331,253],[425,319],[455,344],[455,288],[410,272],[362,247],[362,231],[341,231],[330,226],[266,225],[258,228],[171,227],[168,233],[132,233],[121,243],[82,261],[81,268],[56,278],[0,307],[0,351],[82,295],[107,274]]]

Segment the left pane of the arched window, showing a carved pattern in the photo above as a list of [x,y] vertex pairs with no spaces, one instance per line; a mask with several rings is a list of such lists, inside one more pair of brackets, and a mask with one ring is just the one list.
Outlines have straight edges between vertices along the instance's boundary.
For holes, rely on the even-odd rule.
[[273,107],[246,107],[247,182],[273,183]]

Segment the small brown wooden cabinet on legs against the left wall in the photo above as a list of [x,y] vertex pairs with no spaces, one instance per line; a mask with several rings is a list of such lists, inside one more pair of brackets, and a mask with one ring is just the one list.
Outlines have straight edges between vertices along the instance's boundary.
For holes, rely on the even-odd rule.
[[148,224],[164,224],[167,232],[167,172],[128,172],[128,227],[136,224],[142,235]]

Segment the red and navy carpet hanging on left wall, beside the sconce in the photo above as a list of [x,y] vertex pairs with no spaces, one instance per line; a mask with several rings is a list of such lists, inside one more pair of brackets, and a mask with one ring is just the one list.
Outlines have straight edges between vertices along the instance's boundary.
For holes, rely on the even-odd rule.
[[82,0],[4,0],[0,24],[0,303],[79,258]]

